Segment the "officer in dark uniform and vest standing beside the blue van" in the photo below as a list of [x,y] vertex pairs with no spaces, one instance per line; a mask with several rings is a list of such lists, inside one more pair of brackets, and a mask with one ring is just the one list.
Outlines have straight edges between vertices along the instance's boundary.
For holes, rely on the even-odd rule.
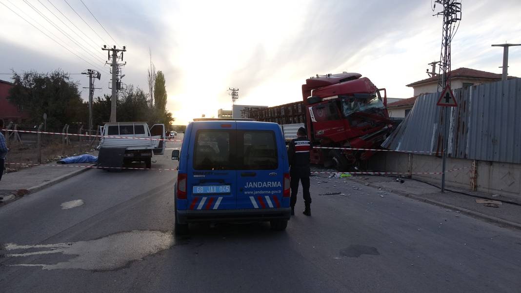
[[309,194],[309,153],[311,143],[306,137],[306,130],[301,127],[296,133],[297,138],[293,139],[288,147],[288,161],[290,164],[291,177],[291,215],[295,214],[296,194],[299,192],[299,180],[302,183],[302,193],[306,209],[303,214],[311,215],[311,195]]

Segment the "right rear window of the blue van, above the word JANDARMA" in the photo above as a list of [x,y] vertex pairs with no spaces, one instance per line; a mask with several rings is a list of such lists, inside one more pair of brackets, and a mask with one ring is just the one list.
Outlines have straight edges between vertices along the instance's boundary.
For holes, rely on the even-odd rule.
[[278,168],[277,143],[273,131],[242,132],[243,154],[240,170],[275,170]]

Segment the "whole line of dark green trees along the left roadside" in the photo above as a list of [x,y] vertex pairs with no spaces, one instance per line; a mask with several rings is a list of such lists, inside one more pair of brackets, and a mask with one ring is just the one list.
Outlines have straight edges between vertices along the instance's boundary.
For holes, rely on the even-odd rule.
[[[139,87],[129,85],[126,91],[119,92],[117,101],[117,121],[142,121],[149,125],[164,123],[166,128],[175,119],[166,111],[165,77],[158,72],[154,86],[155,105],[150,105],[147,95]],[[47,113],[47,128],[60,129],[65,124],[87,124],[89,117],[88,101],[83,101],[78,84],[70,81],[63,71],[48,74],[26,72],[14,73],[15,86],[9,91],[9,101],[29,112],[29,123],[43,122]],[[93,99],[92,118],[94,127],[103,125],[110,119],[110,96]]]

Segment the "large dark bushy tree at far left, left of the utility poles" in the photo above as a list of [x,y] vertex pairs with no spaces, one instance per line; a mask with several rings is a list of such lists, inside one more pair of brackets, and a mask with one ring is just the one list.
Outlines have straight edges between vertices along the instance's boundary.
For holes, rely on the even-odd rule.
[[70,81],[68,73],[13,72],[13,79],[15,85],[9,90],[8,100],[29,112],[28,122],[43,122],[44,113],[49,128],[86,121],[86,104],[80,97],[78,84]]

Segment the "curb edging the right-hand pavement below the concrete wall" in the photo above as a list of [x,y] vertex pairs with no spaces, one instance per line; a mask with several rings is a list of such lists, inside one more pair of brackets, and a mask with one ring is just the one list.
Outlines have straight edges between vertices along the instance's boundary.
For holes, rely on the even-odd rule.
[[370,186],[370,187],[374,187],[374,188],[381,188],[382,190],[386,190],[388,192],[392,192],[392,193],[400,195],[400,196],[412,198],[412,199],[415,199],[415,200],[418,200],[418,201],[427,202],[427,203],[430,203],[431,205],[440,206],[440,207],[444,207],[444,208],[447,208],[447,209],[459,211],[459,212],[461,212],[463,214],[473,216],[474,218],[485,220],[485,221],[488,221],[488,222],[491,222],[491,223],[494,223],[494,224],[499,224],[501,226],[507,226],[507,227],[510,227],[510,228],[521,230],[521,224],[514,223],[514,222],[511,222],[511,221],[507,221],[507,220],[503,220],[503,219],[500,219],[500,218],[496,218],[495,216],[490,216],[490,215],[487,215],[487,214],[484,214],[484,213],[481,213],[481,212],[477,212],[477,211],[468,210],[468,209],[465,209],[465,208],[453,206],[453,205],[450,205],[449,203],[441,202],[441,201],[438,201],[438,200],[428,199],[428,198],[424,198],[424,197],[421,197],[421,196],[418,196],[418,195],[405,193],[405,192],[402,192],[401,190],[392,190],[392,189],[389,189],[387,187],[384,187],[384,186],[381,186],[381,185],[378,185],[378,184],[375,184],[375,183],[368,183],[368,182],[364,182],[364,181],[359,180],[359,179],[355,179],[355,180],[358,183],[362,183],[364,185],[367,184],[366,186]]

